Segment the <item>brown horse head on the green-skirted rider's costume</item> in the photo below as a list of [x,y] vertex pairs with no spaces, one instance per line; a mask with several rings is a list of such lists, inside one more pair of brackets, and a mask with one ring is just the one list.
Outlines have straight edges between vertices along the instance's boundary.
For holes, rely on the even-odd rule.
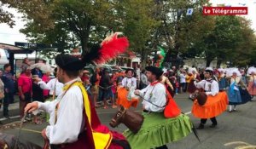
[[111,119],[109,125],[113,128],[117,127],[120,123],[124,123],[125,126],[136,134],[143,125],[143,115],[132,112],[121,106],[118,112],[115,113],[114,117]]

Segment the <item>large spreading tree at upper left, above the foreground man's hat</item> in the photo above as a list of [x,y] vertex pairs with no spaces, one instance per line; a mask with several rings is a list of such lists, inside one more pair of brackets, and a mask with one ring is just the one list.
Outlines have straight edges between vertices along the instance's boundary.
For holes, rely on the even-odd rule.
[[[32,41],[61,45],[59,51],[71,47],[71,40],[79,40],[83,53],[88,52],[89,40],[96,42],[112,26],[118,1],[102,0],[2,0],[18,9],[27,21],[21,30]],[[113,24],[112,24],[113,23]]]

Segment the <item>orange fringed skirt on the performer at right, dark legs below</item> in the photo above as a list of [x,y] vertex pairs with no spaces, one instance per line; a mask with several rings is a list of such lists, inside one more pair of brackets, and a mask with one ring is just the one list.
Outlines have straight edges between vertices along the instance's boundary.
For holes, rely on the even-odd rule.
[[226,92],[219,92],[215,96],[208,95],[204,106],[200,106],[197,100],[194,101],[192,114],[199,118],[217,117],[227,109],[228,104],[229,100]]

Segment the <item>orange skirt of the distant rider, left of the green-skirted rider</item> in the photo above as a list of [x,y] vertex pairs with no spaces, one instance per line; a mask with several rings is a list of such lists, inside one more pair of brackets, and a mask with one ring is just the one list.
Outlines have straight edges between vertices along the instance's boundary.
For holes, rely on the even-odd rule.
[[126,109],[129,109],[131,106],[137,107],[138,99],[127,100],[128,90],[125,87],[117,89],[117,105],[124,106]]

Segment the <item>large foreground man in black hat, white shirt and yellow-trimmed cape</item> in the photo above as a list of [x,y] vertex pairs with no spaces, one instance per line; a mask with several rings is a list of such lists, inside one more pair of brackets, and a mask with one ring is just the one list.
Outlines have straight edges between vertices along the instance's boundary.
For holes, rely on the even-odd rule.
[[[92,137],[94,131],[91,125],[98,123],[98,120],[95,110],[91,110],[93,108],[79,78],[79,72],[83,69],[84,63],[68,54],[57,55],[55,62],[57,78],[64,83],[63,92],[56,100],[28,104],[25,112],[35,110],[49,112],[49,126],[42,131],[42,135],[44,139],[49,140],[51,148],[63,146],[74,149],[96,148],[98,142]],[[109,134],[106,134],[106,137],[108,141],[111,140]],[[102,141],[102,143],[108,148],[108,142]]]

